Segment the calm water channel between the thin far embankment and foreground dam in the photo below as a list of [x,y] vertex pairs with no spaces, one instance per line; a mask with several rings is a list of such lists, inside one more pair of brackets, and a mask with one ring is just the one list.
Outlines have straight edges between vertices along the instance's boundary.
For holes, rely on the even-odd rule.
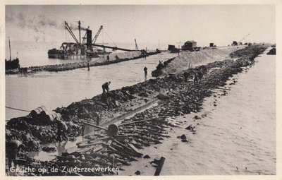
[[[102,93],[102,84],[111,81],[110,89],[140,83],[144,80],[143,68],[147,66],[148,76],[159,61],[166,61],[178,54],[161,53],[124,61],[107,66],[78,68],[72,71],[40,72],[32,75],[6,76],[6,106],[32,110],[44,105],[48,109],[68,106],[85,98]],[[28,112],[6,109],[6,119],[25,116]]]

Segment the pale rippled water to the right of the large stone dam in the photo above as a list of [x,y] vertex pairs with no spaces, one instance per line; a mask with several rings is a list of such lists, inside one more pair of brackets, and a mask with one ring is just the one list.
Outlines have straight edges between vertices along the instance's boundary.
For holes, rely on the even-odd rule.
[[[161,175],[276,174],[275,58],[262,54],[247,73],[233,76],[238,83],[226,85],[231,87],[228,95],[209,97],[202,112],[176,119],[182,121],[181,128],[173,128],[171,138],[142,150],[151,159],[140,158],[120,174],[139,170],[141,175],[152,175],[155,169],[149,162],[161,156],[166,158]],[[207,117],[192,120],[202,114]],[[197,123],[196,134],[185,130]],[[180,142],[176,137],[181,134],[191,143]]]

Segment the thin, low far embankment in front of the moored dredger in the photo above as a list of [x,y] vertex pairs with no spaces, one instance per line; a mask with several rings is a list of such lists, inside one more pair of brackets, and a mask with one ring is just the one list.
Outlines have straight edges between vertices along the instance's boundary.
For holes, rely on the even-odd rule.
[[[145,54],[140,51],[115,53],[109,55],[108,61],[106,60],[106,57],[99,58],[94,61],[90,61],[90,66],[103,66],[108,64],[116,64],[122,61],[140,59],[140,58],[144,58],[145,56],[150,56],[159,53],[160,53],[159,50],[147,52]],[[87,61],[80,61],[77,63],[56,64],[56,65],[47,65],[47,66],[30,66],[27,68],[20,68],[18,71],[6,71],[6,74],[28,74],[28,73],[37,73],[40,71],[58,72],[58,71],[73,70],[75,68],[87,68],[87,66],[88,66]]]

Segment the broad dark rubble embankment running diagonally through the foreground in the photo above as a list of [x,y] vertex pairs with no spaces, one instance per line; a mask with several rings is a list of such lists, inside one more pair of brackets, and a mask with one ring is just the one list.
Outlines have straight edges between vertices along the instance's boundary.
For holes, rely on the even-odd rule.
[[[231,54],[234,59],[216,61],[205,65],[207,73],[204,74],[199,85],[192,82],[181,83],[180,74],[163,76],[157,79],[147,80],[133,86],[112,90],[107,95],[97,95],[90,100],[74,102],[68,107],[57,108],[63,121],[68,124],[68,136],[75,137],[81,134],[82,121],[92,124],[102,124],[116,114],[128,112],[130,108],[144,104],[157,98],[159,92],[166,92],[166,97],[161,98],[159,104],[144,112],[135,114],[119,126],[118,136],[109,136],[106,131],[97,131],[81,144],[79,152],[71,155],[57,157],[51,162],[40,162],[42,167],[61,167],[63,164],[76,167],[122,167],[130,164],[135,157],[142,157],[138,149],[161,143],[167,138],[169,128],[177,126],[167,117],[200,112],[205,97],[212,95],[212,89],[226,85],[226,80],[233,74],[240,73],[242,67],[255,63],[256,56],[264,52],[264,46],[251,46],[240,49]],[[189,69],[193,71],[193,69]],[[222,95],[226,95],[223,92]],[[128,124],[134,121],[150,119],[136,124]],[[40,143],[54,142],[56,136],[55,124],[39,125],[40,119],[32,119],[30,116],[11,119],[6,125],[6,140],[21,140],[27,150],[40,148]],[[183,127],[185,128],[185,127]],[[113,157],[116,164],[113,164]],[[27,157],[25,157],[27,158]],[[27,158],[28,159],[28,158]],[[29,164],[34,160],[28,159]],[[67,175],[68,172],[59,171],[48,175]],[[81,172],[73,175],[102,175],[116,174],[114,172]],[[38,174],[37,174],[38,175]]]

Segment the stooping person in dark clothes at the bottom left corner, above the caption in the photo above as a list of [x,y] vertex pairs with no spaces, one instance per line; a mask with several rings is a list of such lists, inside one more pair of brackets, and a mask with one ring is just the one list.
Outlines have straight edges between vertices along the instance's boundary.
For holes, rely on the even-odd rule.
[[25,148],[25,145],[19,140],[11,140],[6,144],[6,153],[8,155],[8,167],[12,167],[12,162],[14,167],[16,167],[16,160],[18,159],[18,152],[21,148]]

